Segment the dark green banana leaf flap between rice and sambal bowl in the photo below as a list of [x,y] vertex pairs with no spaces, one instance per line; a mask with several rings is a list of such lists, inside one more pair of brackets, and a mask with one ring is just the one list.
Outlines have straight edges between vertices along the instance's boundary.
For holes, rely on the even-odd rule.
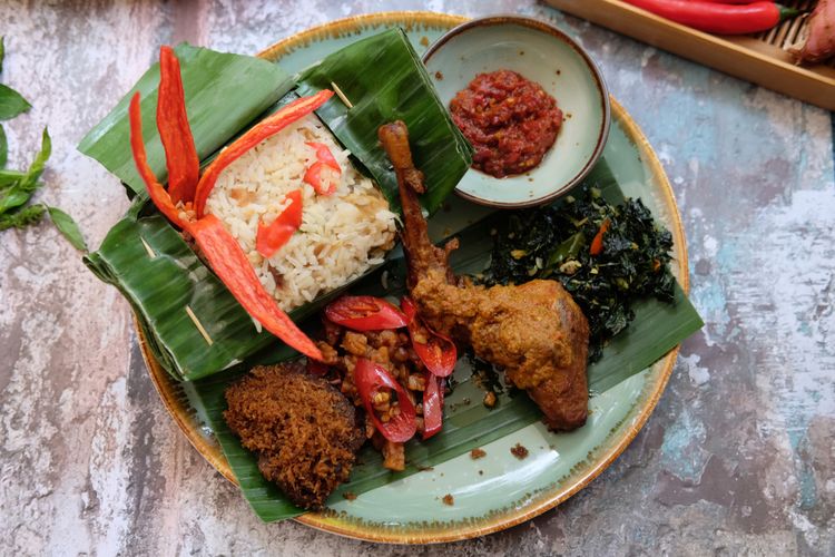
[[[438,98],[403,30],[391,29],[337,50],[304,70],[296,90],[312,95],[332,89],[332,84],[353,107],[334,98],[316,114],[362,162],[392,211],[400,212],[397,179],[380,148],[377,128],[393,120],[406,123],[415,166],[430,185],[421,203],[429,214],[438,211],[472,164],[472,147]],[[426,114],[443,117],[426,118]]]

